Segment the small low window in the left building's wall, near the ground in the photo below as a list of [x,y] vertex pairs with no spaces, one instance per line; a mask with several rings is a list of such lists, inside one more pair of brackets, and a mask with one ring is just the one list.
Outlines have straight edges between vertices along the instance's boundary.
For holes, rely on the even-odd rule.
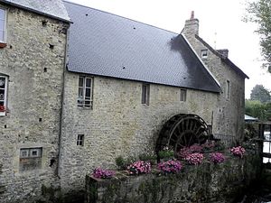
[[42,168],[42,147],[22,148],[20,150],[19,171],[31,171]]

